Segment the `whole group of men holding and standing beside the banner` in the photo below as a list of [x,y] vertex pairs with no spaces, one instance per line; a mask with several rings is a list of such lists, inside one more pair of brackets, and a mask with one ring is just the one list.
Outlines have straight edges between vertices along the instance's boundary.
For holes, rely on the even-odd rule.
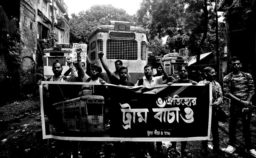
[[[62,73],[62,66],[60,63],[55,62],[52,64],[52,71],[54,75],[47,79],[47,81],[77,81],[77,82],[89,82],[89,83],[102,83],[105,84],[106,82],[103,81],[99,76],[102,72],[102,68],[98,64],[94,64],[91,68],[90,60],[87,56],[86,64],[82,63],[81,60],[81,53],[82,49],[77,49],[77,62],[75,62],[75,66],[73,65],[71,58],[67,58],[67,63],[70,70],[65,73],[70,75],[61,75]],[[146,65],[144,67],[144,74],[145,76],[139,78],[137,83],[133,84],[131,82],[131,77],[128,73],[128,68],[123,66],[121,60],[117,60],[115,62],[116,70],[111,72],[108,68],[108,65],[103,60],[103,53],[99,52],[98,57],[102,64],[103,69],[106,71],[108,75],[108,83],[115,84],[115,85],[122,85],[122,86],[152,86],[152,85],[159,85],[159,84],[168,84],[172,85],[173,83],[192,83],[197,84],[195,81],[188,79],[188,65],[183,64],[179,68],[179,78],[173,80],[172,82],[168,82],[170,77],[168,76],[162,60],[159,58],[157,59],[157,63],[159,67],[156,69],[156,75],[153,75],[153,69],[150,65]],[[86,72],[85,72],[86,67]],[[237,57],[233,57],[231,59],[231,67],[232,73],[228,74],[224,77],[223,80],[223,90],[226,97],[231,99],[231,106],[230,106],[230,120],[229,120],[229,145],[226,148],[225,152],[232,154],[235,148],[236,142],[236,125],[238,122],[238,118],[242,117],[242,125],[243,125],[243,134],[245,139],[246,150],[256,157],[256,151],[252,147],[251,143],[251,132],[250,132],[250,120],[252,118],[252,96],[254,94],[254,83],[252,80],[252,75],[248,73],[244,73],[240,71],[242,64],[240,63],[240,59]],[[212,85],[212,144],[213,144],[213,153],[216,155],[224,154],[223,151],[220,149],[219,144],[219,132],[218,132],[218,119],[217,119],[217,109],[223,103],[223,96],[222,96],[222,89],[218,82],[214,80],[214,75],[216,72],[212,67],[206,67],[203,71],[205,79],[200,81],[199,83],[203,84],[210,84]],[[41,84],[41,81],[38,82],[38,85]],[[178,152],[176,149],[177,142],[171,142],[172,146],[169,151],[168,157],[176,158],[176,157],[184,157],[184,158],[191,158],[193,157],[192,153],[187,148],[187,141],[181,142],[181,151]],[[150,143],[149,143],[150,144]],[[149,145],[150,146],[150,145]],[[156,142],[157,148],[160,150],[162,149],[162,143]],[[202,148],[201,152],[204,155],[207,155],[207,147],[208,141],[202,141]],[[150,153],[150,151],[148,151]],[[102,153],[100,153],[102,155]],[[115,154],[116,155],[116,154]],[[149,154],[150,155],[150,154]],[[113,156],[113,155],[112,155]],[[117,155],[118,156],[118,155]],[[145,155],[146,156],[146,155]],[[156,156],[156,155],[150,155]]]

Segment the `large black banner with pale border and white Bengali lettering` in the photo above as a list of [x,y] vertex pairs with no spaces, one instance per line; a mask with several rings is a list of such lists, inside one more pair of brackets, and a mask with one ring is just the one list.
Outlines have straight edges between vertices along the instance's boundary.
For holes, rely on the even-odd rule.
[[42,82],[43,137],[91,141],[210,138],[212,87]]

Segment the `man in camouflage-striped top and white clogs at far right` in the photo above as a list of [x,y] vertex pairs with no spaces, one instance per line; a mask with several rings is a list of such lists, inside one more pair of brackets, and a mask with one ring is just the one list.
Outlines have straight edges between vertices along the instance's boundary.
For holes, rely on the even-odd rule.
[[242,117],[243,134],[245,146],[248,153],[256,157],[256,151],[252,148],[250,122],[252,118],[252,97],[254,94],[254,83],[252,75],[240,71],[242,64],[238,57],[231,59],[232,73],[224,77],[223,90],[225,95],[231,99],[230,120],[229,120],[229,145],[225,152],[233,153],[236,142],[236,124],[239,117]]

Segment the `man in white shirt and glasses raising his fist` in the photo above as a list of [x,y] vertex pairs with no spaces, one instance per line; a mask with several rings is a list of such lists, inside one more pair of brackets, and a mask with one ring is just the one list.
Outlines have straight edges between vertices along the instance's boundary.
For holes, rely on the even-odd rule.
[[163,74],[161,76],[156,76],[153,77],[153,71],[152,71],[152,67],[150,65],[146,65],[144,67],[144,74],[145,76],[142,78],[139,78],[137,83],[135,84],[135,86],[153,86],[153,85],[159,85],[159,84],[163,84],[164,82],[166,82],[165,80],[168,78],[168,74],[164,68],[164,65],[162,63],[162,59],[161,58],[157,58],[156,62],[160,65],[160,67],[163,70]]

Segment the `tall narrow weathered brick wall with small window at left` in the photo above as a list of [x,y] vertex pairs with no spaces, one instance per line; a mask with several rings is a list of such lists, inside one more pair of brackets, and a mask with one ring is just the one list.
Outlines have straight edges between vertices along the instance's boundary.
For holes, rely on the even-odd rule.
[[[22,93],[31,93],[35,88],[37,58],[37,0],[20,0],[20,40],[23,45],[20,70],[20,89]],[[31,62],[24,62],[24,58]]]

